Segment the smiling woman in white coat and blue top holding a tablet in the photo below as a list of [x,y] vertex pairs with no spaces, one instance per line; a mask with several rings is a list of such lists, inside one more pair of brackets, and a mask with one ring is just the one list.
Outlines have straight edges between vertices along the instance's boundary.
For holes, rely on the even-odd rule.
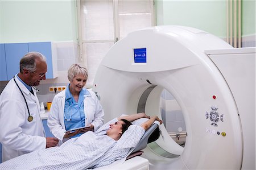
[[71,65],[68,70],[70,84],[53,98],[47,124],[59,139],[59,145],[86,131],[96,131],[103,125],[104,111],[96,94],[83,88],[87,77],[85,67]]

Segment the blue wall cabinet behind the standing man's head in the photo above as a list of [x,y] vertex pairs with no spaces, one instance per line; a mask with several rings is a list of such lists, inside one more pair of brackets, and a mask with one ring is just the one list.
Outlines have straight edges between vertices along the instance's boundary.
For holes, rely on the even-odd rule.
[[[0,81],[11,80],[19,73],[19,60],[27,53],[37,51],[46,56],[46,78],[57,77],[57,55],[55,44],[52,42],[38,43],[8,43],[1,44],[1,75]],[[3,71],[2,71],[3,69]],[[6,70],[6,71],[5,71]],[[5,71],[5,72],[4,72]]]

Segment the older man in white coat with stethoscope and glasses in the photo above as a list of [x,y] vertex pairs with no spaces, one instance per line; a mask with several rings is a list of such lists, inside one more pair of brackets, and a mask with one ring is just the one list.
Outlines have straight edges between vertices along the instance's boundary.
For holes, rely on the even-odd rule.
[[29,52],[20,59],[20,73],[8,82],[0,95],[2,161],[58,143],[57,138],[45,138],[34,87],[46,79],[46,72],[46,57]]

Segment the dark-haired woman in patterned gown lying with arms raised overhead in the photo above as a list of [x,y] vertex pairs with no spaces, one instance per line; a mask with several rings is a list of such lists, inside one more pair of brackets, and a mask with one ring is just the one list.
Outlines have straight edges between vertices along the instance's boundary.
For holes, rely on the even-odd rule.
[[130,122],[139,118],[150,117],[138,113],[115,118],[96,132],[88,131],[60,147],[34,151],[5,161],[0,164],[0,169],[88,169],[112,164],[127,156],[154,121],[162,123],[154,116],[141,126],[131,125]]

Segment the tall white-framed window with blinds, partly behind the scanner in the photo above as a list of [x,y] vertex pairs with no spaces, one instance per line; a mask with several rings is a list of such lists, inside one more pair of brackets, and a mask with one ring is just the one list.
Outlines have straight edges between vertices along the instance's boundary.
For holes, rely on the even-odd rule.
[[92,85],[109,48],[129,32],[154,26],[154,0],[80,0],[80,54]]

